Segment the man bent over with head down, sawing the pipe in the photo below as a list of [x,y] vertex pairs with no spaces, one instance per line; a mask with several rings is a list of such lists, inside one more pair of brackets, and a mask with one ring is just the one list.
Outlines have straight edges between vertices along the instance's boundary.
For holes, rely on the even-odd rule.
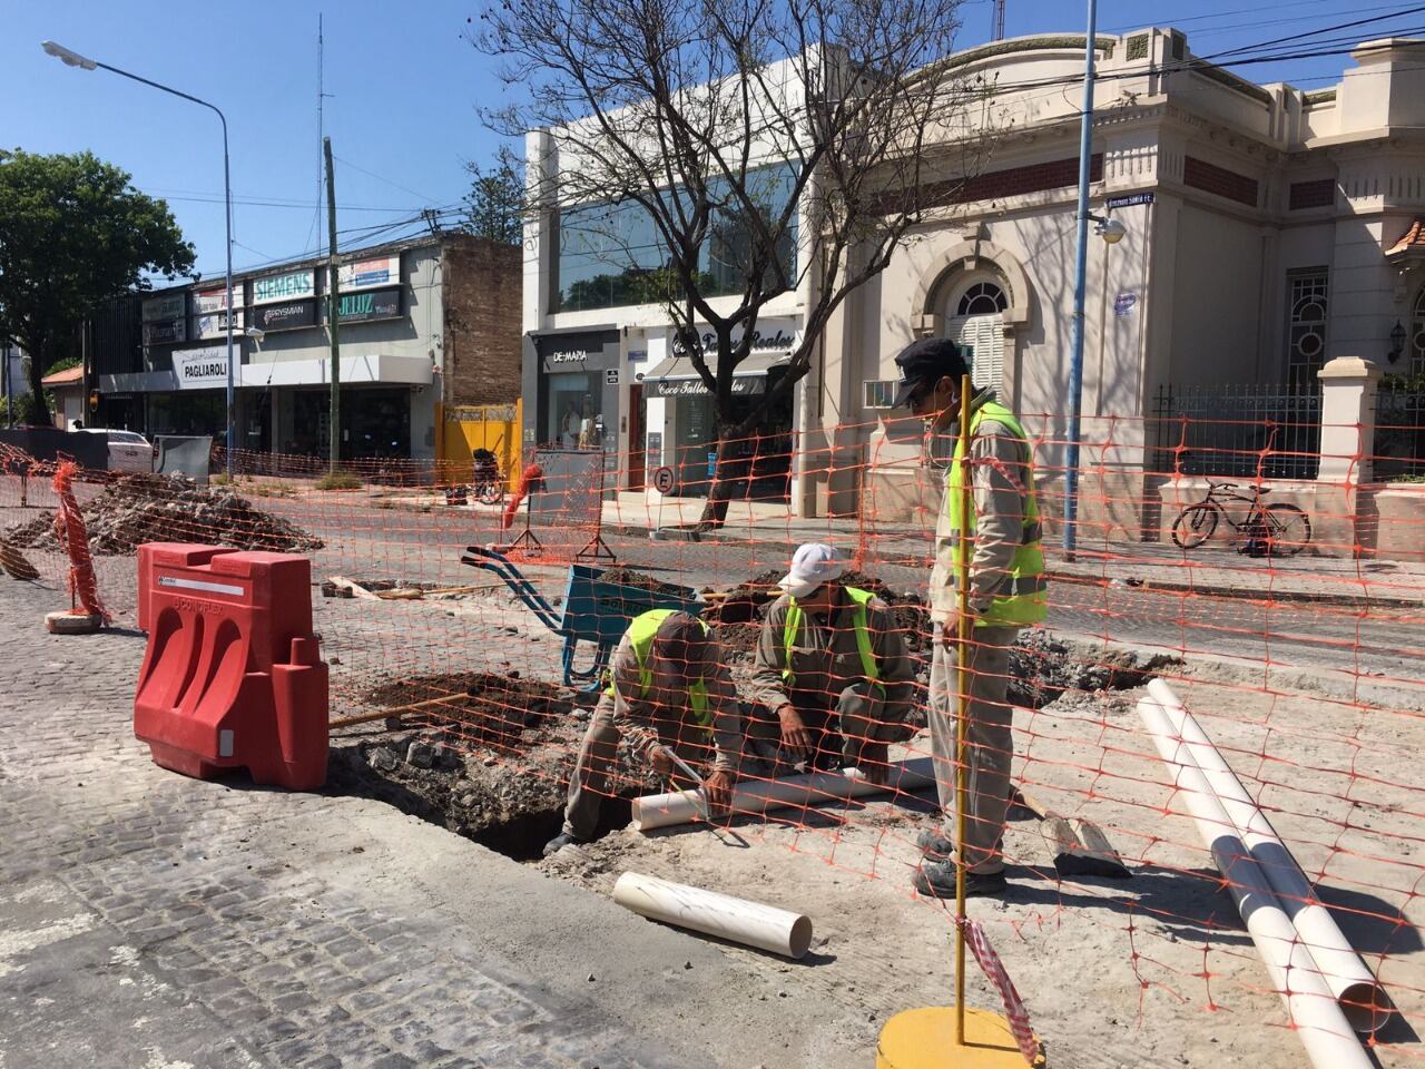
[[697,787],[668,755],[665,747],[671,748],[704,777],[710,812],[725,812],[737,780],[741,730],[732,678],[708,626],[671,609],[634,617],[614,651],[608,690],[594,707],[570,774],[564,830],[544,845],[544,857],[594,837],[598,807],[613,794],[618,741],[626,735],[636,761],[678,787]]

